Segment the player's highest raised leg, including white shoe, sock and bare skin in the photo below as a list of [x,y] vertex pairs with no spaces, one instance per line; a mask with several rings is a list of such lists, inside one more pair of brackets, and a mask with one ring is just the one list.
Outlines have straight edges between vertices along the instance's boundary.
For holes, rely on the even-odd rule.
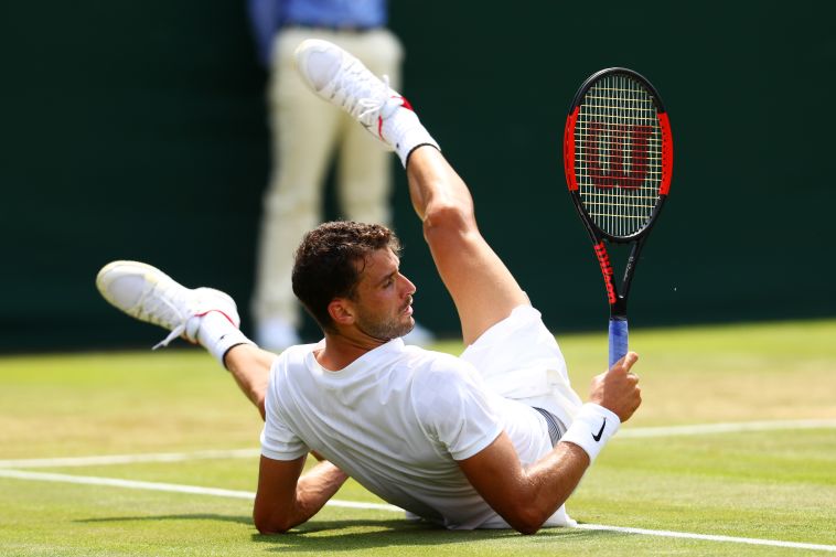
[[[441,279],[453,298],[465,343],[528,298],[476,226],[473,201],[411,106],[354,56],[325,41],[297,49],[303,79],[394,149],[407,169],[412,206]],[[408,164],[407,164],[408,162]]]

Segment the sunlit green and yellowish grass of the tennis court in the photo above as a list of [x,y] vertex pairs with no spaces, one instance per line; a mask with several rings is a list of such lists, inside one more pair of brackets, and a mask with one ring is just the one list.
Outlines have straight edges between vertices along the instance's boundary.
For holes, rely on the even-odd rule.
[[[624,429],[836,419],[834,341],[836,321],[633,331],[644,405]],[[581,395],[605,343],[560,339]],[[199,350],[0,357],[0,459],[255,448],[259,432]],[[253,492],[257,458],[31,470]],[[353,482],[336,499],[379,502]],[[617,436],[568,507],[583,523],[836,546],[836,429]],[[333,506],[270,537],[250,511],[243,499],[0,478],[0,555],[824,555],[615,532],[446,532]]]

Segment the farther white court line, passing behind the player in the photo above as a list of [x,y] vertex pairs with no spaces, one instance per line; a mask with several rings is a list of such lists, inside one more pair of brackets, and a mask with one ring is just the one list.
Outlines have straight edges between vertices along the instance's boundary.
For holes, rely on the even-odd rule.
[[[697,424],[690,426],[624,428],[615,439],[678,437],[740,431],[776,431],[784,429],[829,429],[836,428],[836,419],[737,421],[728,424]],[[0,460],[3,468],[64,468],[95,467],[108,464],[132,464],[136,462],[184,462],[199,459],[248,459],[260,454],[259,449],[206,450],[193,452],[159,452],[146,454],[104,454],[94,457],[58,457],[45,459]]]

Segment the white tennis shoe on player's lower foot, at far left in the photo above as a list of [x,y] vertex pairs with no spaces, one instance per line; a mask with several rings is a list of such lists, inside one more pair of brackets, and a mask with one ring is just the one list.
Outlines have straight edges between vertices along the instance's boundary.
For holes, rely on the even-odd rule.
[[156,267],[138,261],[112,261],[98,272],[96,288],[117,309],[171,331],[153,350],[183,336],[197,343],[201,317],[223,314],[237,329],[235,301],[214,288],[185,288]]

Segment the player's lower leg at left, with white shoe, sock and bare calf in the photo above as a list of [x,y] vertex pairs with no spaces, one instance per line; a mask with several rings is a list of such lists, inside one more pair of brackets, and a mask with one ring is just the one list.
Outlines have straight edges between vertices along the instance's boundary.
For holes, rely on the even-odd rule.
[[160,269],[139,261],[112,261],[98,272],[96,287],[117,309],[170,331],[154,349],[178,336],[205,347],[232,372],[264,417],[264,397],[275,354],[238,330],[235,301],[214,288],[186,288]]

